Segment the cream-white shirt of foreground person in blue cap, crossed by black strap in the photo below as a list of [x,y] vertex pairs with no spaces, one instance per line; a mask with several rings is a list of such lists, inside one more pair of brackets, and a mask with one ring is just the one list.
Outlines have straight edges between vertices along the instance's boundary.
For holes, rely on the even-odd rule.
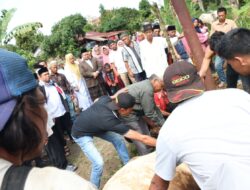
[[[12,164],[0,159],[0,186],[4,174]],[[94,185],[73,172],[54,167],[32,168],[27,176],[24,190],[96,190]]]

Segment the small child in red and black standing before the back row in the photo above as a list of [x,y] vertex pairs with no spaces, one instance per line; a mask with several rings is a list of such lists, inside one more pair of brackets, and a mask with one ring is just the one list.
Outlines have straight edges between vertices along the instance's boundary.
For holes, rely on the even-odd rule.
[[105,82],[110,87],[111,95],[115,94],[118,90],[124,87],[116,69],[112,69],[108,63],[104,65],[104,76]]

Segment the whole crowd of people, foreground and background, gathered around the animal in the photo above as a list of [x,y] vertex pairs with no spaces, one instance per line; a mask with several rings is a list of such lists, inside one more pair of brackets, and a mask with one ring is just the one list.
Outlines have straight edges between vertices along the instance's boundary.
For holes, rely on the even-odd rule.
[[[122,33],[118,41],[81,49],[78,58],[68,53],[63,66],[39,61],[33,74],[22,57],[1,49],[2,188],[11,189],[13,175],[25,190],[99,188],[104,163],[94,137],[111,142],[123,164],[130,160],[123,137],[139,155],[156,147],[152,190],[166,189],[182,162],[202,189],[250,188],[241,177],[250,172],[250,30],[237,28],[226,13],[218,9],[210,33],[193,19],[205,52],[198,72],[185,36],[170,25],[167,34],[179,59],[173,63],[157,23],[145,23],[135,40]],[[202,78],[214,56],[219,87],[237,88],[240,78],[246,92],[204,92]],[[77,166],[67,160],[68,142],[91,161],[92,184],[72,172]]]

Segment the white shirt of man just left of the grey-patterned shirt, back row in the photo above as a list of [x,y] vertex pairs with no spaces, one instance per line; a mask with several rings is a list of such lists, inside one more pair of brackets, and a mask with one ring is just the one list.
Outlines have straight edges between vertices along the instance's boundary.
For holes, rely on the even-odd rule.
[[123,57],[122,57],[122,49],[123,48],[119,47],[116,51],[111,51],[109,53],[109,61],[110,61],[110,63],[115,64],[115,66],[117,68],[117,72],[119,74],[127,72],[127,69],[125,67],[125,63],[124,63]]

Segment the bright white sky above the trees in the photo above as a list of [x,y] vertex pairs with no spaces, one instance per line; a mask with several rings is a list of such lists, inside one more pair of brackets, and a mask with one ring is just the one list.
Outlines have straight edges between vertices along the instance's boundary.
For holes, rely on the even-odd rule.
[[[161,0],[149,2],[160,3]],[[62,18],[80,13],[85,18],[98,17],[99,5],[105,9],[129,7],[138,9],[140,0],[0,0],[0,10],[16,8],[8,31],[29,22],[41,22],[41,32],[50,34],[51,27]]]

